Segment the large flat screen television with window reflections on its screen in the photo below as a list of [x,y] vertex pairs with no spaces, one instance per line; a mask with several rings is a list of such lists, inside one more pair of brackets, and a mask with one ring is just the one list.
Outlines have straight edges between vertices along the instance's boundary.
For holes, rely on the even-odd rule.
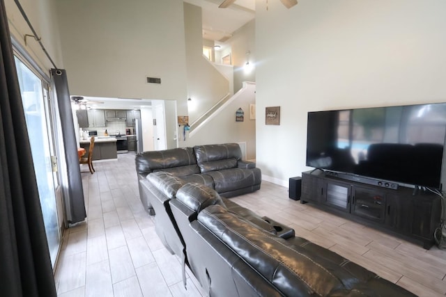
[[312,111],[307,166],[442,188],[446,103]]

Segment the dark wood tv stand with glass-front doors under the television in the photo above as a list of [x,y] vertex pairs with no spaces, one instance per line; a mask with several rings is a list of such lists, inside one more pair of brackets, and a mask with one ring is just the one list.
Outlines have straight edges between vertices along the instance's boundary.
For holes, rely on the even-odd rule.
[[441,198],[429,191],[400,186],[396,190],[326,175],[322,170],[302,173],[301,203],[422,244],[429,250],[440,224]]

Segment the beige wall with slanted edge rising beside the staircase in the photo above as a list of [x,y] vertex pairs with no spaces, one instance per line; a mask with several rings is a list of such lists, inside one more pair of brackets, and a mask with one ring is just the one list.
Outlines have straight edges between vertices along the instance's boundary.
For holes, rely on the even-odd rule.
[[[194,122],[229,93],[229,81],[203,57],[201,8],[184,3],[189,120]],[[180,113],[179,115],[184,115]]]

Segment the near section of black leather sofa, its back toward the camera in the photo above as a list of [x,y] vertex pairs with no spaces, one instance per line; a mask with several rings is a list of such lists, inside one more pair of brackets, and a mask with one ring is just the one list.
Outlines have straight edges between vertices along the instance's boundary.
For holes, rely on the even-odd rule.
[[141,191],[164,246],[209,296],[414,296],[204,184],[153,172]]

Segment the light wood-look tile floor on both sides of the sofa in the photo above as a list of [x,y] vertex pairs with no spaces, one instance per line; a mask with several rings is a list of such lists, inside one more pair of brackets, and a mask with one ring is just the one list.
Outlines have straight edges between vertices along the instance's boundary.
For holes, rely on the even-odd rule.
[[[82,172],[88,219],[64,236],[54,275],[58,295],[205,296],[192,273],[184,289],[179,259],[157,238],[153,220],[139,200],[134,154],[118,154],[118,161],[94,166],[93,175]],[[232,199],[418,296],[446,295],[446,250],[424,250],[300,204],[288,198],[288,188],[269,182]]]

